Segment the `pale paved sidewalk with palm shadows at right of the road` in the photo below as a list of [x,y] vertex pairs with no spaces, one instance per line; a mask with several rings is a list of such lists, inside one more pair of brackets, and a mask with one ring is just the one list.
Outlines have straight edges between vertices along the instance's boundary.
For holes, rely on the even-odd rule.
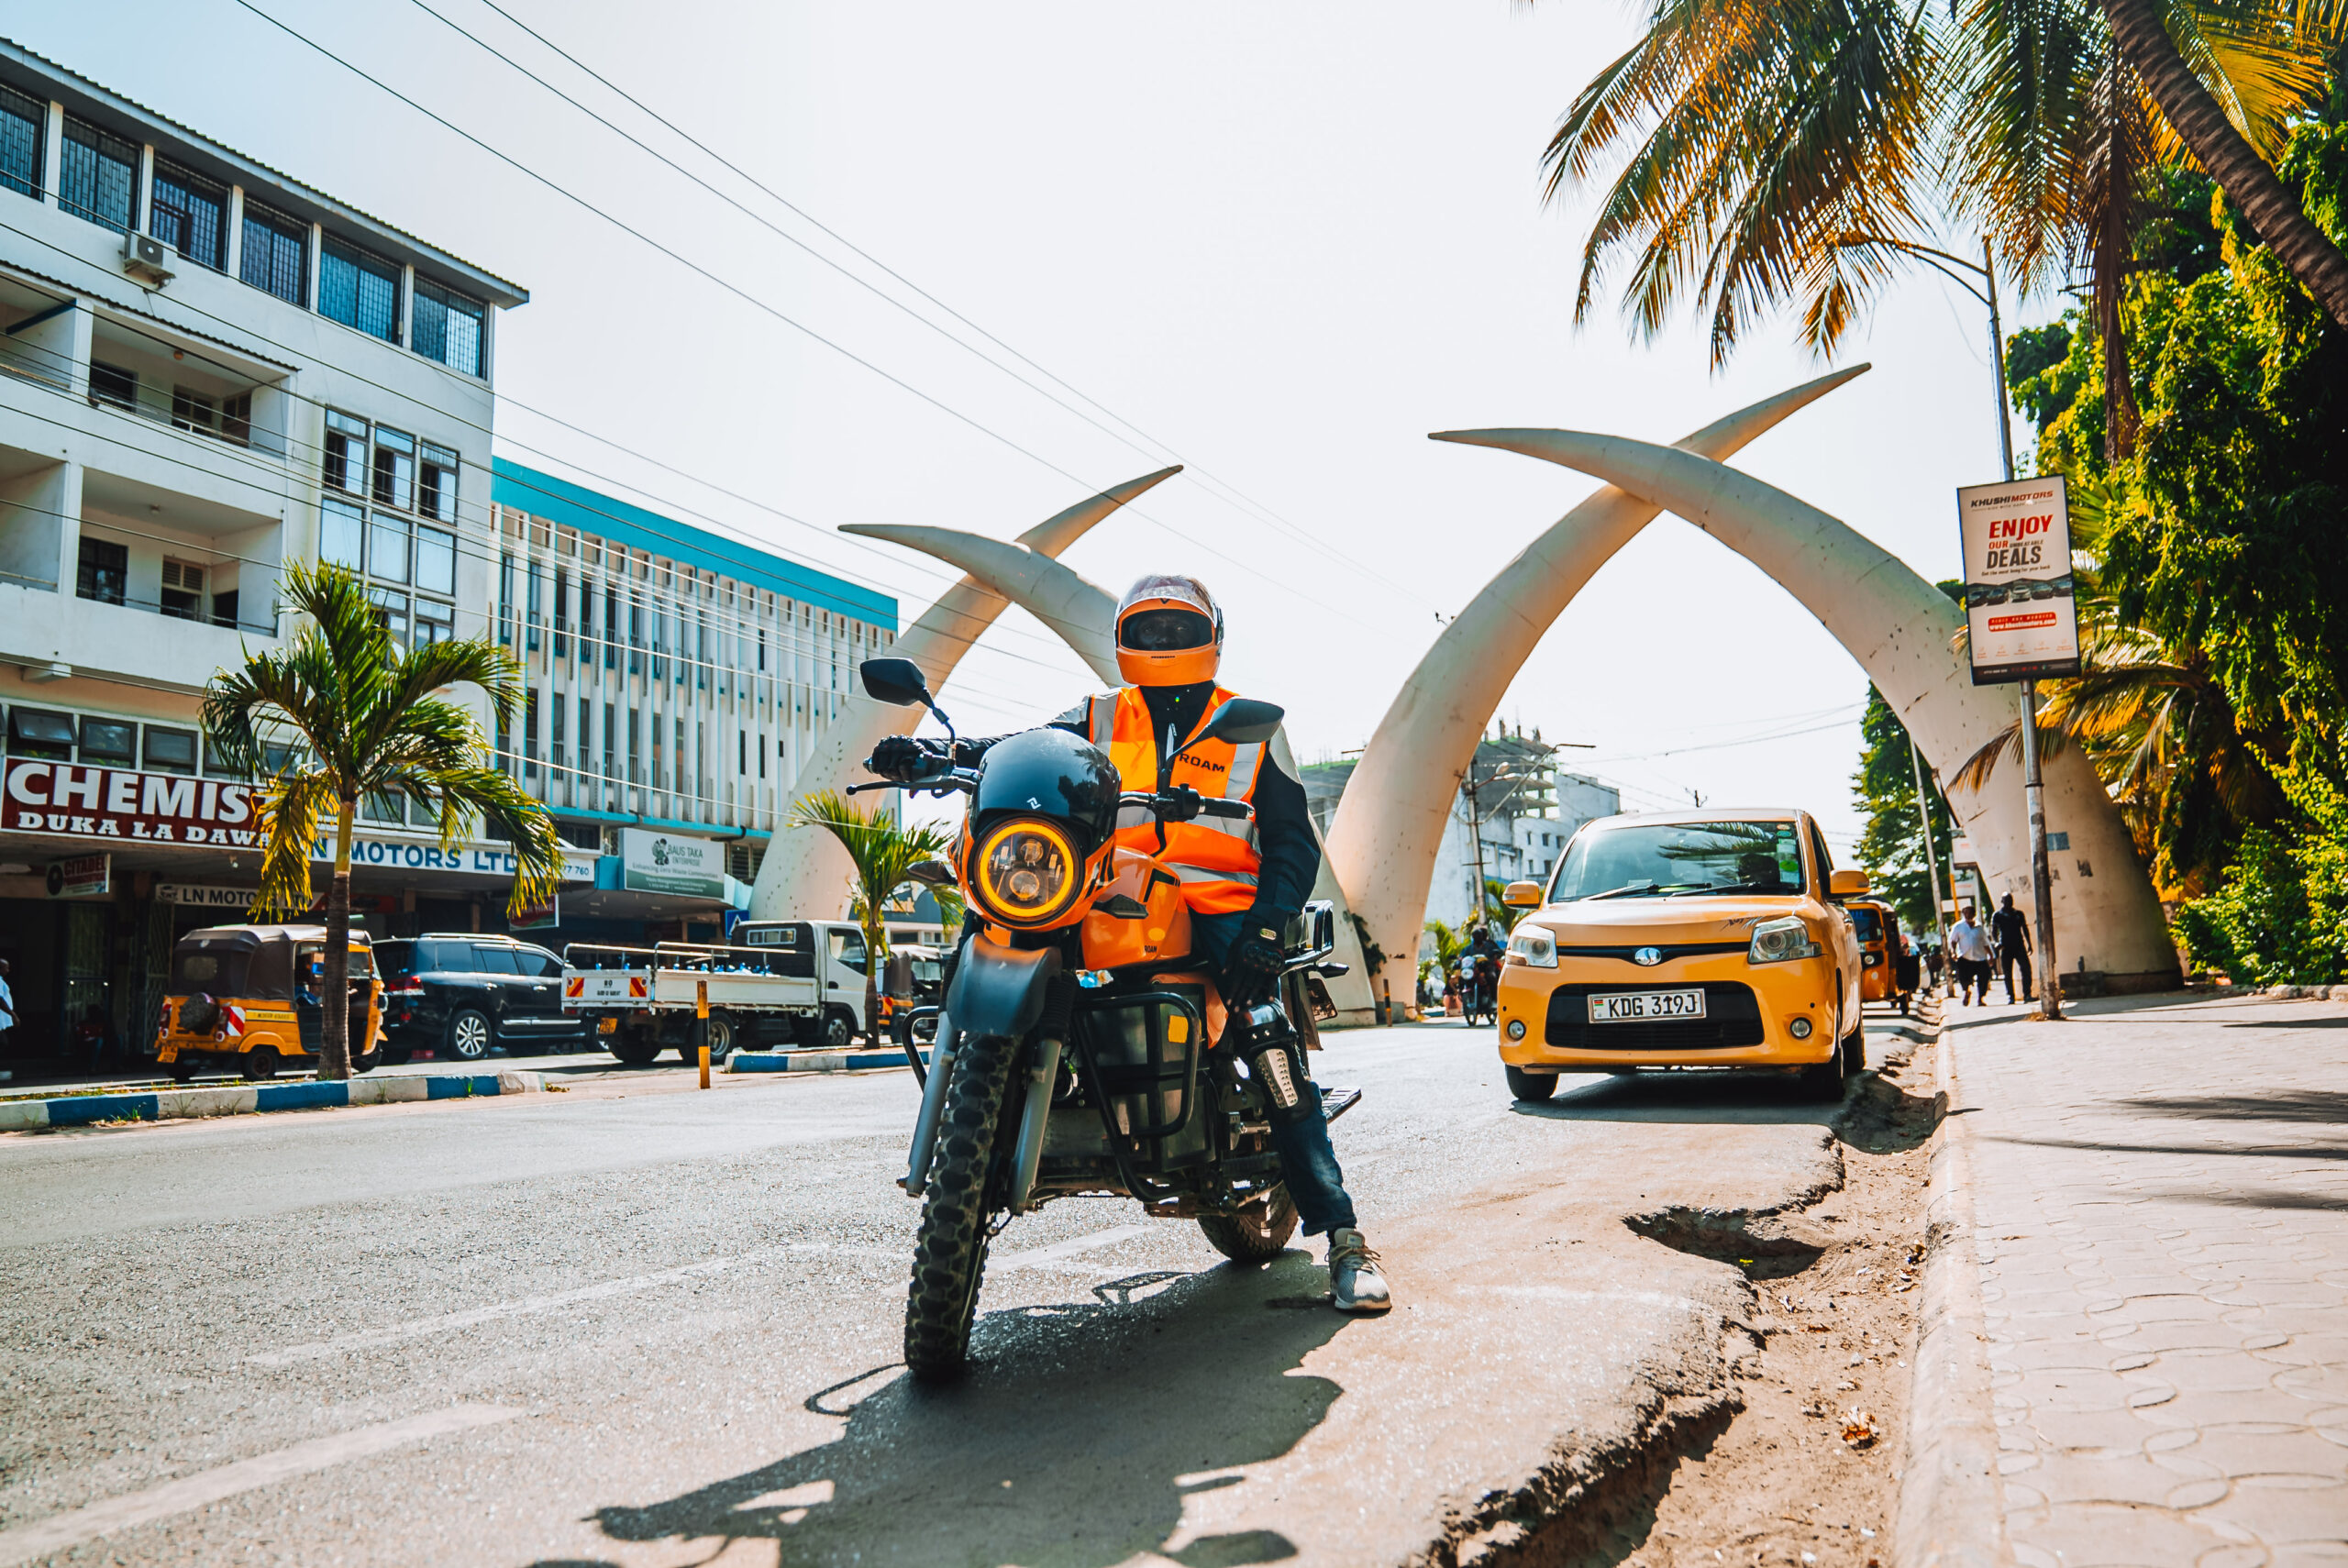
[[2015,1556],[2348,1563],[2348,1007],[1951,1007]]

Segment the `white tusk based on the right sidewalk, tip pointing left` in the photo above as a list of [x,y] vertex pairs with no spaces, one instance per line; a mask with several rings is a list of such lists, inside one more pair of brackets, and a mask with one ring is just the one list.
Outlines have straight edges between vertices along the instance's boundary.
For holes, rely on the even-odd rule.
[[[1498,446],[1580,469],[1669,507],[1766,570],[1860,662],[1946,779],[2015,716],[2003,685],[1972,685],[1951,641],[1963,613],[1904,561],[1843,521],[1752,474],[1695,453],[1571,430],[1453,430],[1437,441]],[[2069,746],[2045,763],[2047,824],[2071,836],[2050,857],[2054,946],[2064,972],[2097,972],[2111,991],[2177,984],[2160,901],[2127,824],[2087,758]],[[1949,789],[1972,838],[1989,897],[2029,906],[2029,817],[2022,779],[2000,768],[1986,791]],[[1984,911],[1986,913],[1986,911]]]

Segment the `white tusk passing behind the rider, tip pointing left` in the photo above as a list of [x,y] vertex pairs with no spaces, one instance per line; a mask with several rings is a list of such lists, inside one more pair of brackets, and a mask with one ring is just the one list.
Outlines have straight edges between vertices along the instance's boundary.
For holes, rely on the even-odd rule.
[[[974,533],[956,533],[953,528],[859,523],[850,526],[848,533],[892,540],[909,549],[932,554],[949,566],[963,568],[972,580],[984,582],[991,592],[1017,603],[1021,610],[1059,631],[1068,648],[1073,648],[1104,683],[1111,688],[1125,685],[1125,676],[1118,674],[1118,601],[1108,589],[1089,582],[1073,568],[1033,549],[1005,545],[1003,540],[989,540]],[[927,667],[923,669],[927,671]],[[932,690],[935,688],[937,681],[932,681]],[[1277,761],[1282,772],[1291,779],[1303,777],[1296,770],[1296,753],[1289,749],[1287,730],[1273,737],[1273,761]],[[1320,829],[1315,829],[1315,838],[1320,838]],[[1327,845],[1322,847],[1320,871],[1313,880],[1313,897],[1334,901],[1338,911],[1336,960],[1348,969],[1345,974],[1327,981],[1329,1000],[1338,1009],[1336,1021],[1374,1023],[1376,1002],[1369,993],[1369,972],[1362,965],[1362,939],[1359,932],[1355,932],[1352,904],[1345,897],[1343,878],[1336,876],[1336,869],[1329,861]]]

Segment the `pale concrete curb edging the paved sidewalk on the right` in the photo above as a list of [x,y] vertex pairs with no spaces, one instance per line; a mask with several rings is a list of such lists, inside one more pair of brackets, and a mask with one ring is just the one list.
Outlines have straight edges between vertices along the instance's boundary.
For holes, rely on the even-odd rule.
[[1892,1561],[1900,1568],[2010,1568],[1982,1261],[1972,1237],[1972,1129],[1951,1113],[1956,1061],[1946,1021],[1932,1030],[1932,1063],[1939,1124],[1925,1178],[1928,1251]]

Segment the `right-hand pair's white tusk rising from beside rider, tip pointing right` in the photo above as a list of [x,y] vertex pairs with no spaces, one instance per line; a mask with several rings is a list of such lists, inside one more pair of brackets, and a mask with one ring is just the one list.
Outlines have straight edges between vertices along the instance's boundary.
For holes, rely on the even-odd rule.
[[[1864,373],[1867,366],[1860,364],[1820,376],[1705,425],[1681,446],[1726,458]],[[1352,894],[1371,941],[1392,955],[1388,962],[1399,965],[1399,974],[1411,976],[1404,981],[1404,1005],[1411,1012],[1428,887],[1442,857],[1451,803],[1484,725],[1550,624],[1658,512],[1651,500],[1604,488],[1526,545],[1418,660],[1338,798],[1329,824],[1329,864]],[[1392,974],[1388,972],[1388,984]]]

